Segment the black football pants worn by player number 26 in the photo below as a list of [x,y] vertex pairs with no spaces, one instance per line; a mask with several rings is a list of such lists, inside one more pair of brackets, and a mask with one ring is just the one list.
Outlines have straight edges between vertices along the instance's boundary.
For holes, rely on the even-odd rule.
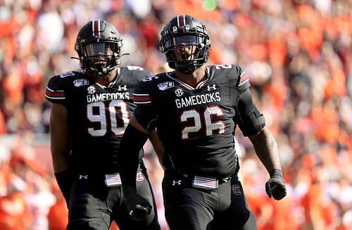
[[191,183],[191,176],[165,171],[163,196],[170,230],[256,229],[237,175],[219,181],[215,191],[195,189]]

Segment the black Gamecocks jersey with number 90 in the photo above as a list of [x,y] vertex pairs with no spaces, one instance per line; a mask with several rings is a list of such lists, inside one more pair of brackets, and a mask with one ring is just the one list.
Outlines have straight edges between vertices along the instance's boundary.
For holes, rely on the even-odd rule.
[[105,87],[88,79],[85,72],[65,72],[52,77],[46,99],[68,110],[70,164],[76,173],[115,172],[116,154],[134,112],[132,94],[151,72],[137,66],[118,68],[118,75]]

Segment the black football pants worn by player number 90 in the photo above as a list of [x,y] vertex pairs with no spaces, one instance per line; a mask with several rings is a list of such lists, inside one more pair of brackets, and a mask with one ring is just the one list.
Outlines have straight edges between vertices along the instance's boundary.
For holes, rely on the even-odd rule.
[[120,230],[160,230],[155,200],[149,179],[139,174],[138,193],[149,200],[153,210],[145,221],[136,222],[128,216],[122,200],[122,186],[109,188],[103,179],[81,179],[73,183],[68,210],[68,230],[108,230],[115,220]]

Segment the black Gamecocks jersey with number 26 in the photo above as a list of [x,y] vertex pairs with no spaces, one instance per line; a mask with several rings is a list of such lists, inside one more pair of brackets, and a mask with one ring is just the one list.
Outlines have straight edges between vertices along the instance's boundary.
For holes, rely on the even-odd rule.
[[196,88],[177,79],[175,72],[143,79],[134,91],[134,115],[144,128],[156,127],[166,167],[223,177],[236,170],[234,130],[241,122],[237,100],[250,84],[237,65],[206,70],[208,78]]

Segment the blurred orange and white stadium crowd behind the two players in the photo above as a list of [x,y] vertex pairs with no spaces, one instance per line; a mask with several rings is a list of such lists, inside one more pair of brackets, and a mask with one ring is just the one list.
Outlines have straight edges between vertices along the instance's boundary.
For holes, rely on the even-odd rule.
[[[159,32],[182,13],[208,27],[208,64],[246,70],[279,143],[288,196],[275,201],[265,194],[268,174],[237,131],[258,229],[352,229],[351,0],[0,0],[0,229],[58,230],[67,222],[51,171],[44,91],[53,75],[79,69],[70,57],[80,27],[108,20],[130,53],[122,64],[158,73],[168,69]],[[167,229],[163,170],[146,149]]]

